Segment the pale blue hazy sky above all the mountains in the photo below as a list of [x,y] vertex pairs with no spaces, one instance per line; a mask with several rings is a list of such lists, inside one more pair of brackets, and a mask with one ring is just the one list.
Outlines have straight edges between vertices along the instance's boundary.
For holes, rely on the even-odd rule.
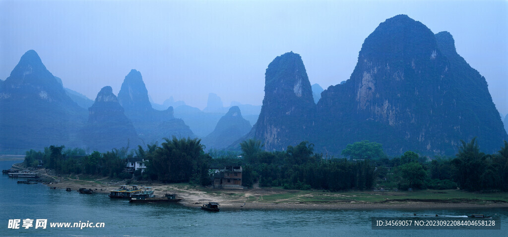
[[310,83],[326,89],[350,77],[364,39],[398,14],[449,31],[508,113],[506,1],[0,0],[0,78],[34,49],[91,99],[104,86],[117,94],[135,68],[156,103],[173,96],[203,109],[213,92],[225,105],[260,105],[276,56],[300,54]]

